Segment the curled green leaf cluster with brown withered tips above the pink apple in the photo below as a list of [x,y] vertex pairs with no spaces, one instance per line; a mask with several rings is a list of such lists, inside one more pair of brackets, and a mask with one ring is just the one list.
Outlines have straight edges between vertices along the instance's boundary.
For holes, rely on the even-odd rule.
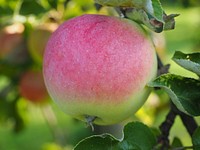
[[103,6],[120,7],[126,18],[155,32],[174,29],[177,14],[166,15],[159,0],[95,0]]

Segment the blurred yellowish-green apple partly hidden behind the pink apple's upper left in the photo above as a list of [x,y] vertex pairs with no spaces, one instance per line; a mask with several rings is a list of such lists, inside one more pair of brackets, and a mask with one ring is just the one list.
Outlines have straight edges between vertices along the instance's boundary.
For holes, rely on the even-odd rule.
[[38,25],[30,31],[28,36],[28,50],[36,63],[42,64],[47,41],[57,27],[56,23],[46,23]]

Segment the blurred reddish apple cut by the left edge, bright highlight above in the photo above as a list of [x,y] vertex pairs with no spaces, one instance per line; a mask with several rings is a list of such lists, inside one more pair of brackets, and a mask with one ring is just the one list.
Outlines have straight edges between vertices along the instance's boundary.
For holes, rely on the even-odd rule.
[[22,65],[29,60],[23,37],[24,26],[15,23],[0,30],[0,60],[10,65]]

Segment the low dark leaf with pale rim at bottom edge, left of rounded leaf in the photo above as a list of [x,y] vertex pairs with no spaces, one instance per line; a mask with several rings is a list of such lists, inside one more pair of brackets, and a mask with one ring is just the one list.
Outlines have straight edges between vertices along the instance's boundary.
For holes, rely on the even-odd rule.
[[74,150],[114,150],[119,141],[112,135],[94,135],[80,141]]

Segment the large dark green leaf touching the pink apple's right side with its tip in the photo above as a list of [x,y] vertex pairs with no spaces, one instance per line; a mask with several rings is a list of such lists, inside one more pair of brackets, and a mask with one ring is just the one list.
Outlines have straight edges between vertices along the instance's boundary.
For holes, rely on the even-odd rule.
[[163,88],[177,108],[192,116],[200,115],[200,81],[174,74],[164,74],[148,84]]

